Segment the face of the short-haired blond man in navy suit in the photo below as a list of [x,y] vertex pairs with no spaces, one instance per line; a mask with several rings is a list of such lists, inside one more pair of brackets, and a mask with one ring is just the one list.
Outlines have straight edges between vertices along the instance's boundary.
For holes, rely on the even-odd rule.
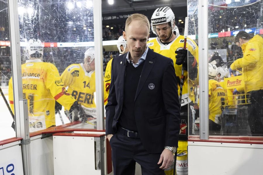
[[146,25],[141,25],[138,20],[132,21],[123,32],[123,38],[127,41],[127,48],[131,58],[140,58],[146,50],[149,31]]

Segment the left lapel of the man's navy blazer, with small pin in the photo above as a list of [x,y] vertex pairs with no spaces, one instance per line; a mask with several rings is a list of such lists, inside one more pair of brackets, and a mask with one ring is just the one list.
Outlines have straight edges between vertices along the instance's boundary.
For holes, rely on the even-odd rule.
[[119,71],[118,71],[118,77],[120,77],[119,79],[119,91],[120,91],[120,97],[121,97],[121,104],[123,103],[123,98],[124,98],[124,78],[125,78],[125,69],[126,69],[126,56],[127,56],[127,53],[123,54],[122,55],[122,59],[120,59],[120,63],[117,63],[119,64]]

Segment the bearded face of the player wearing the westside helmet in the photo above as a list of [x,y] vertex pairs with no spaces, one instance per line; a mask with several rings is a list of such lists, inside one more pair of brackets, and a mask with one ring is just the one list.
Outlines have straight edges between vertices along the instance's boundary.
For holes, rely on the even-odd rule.
[[172,33],[172,27],[169,26],[168,22],[162,25],[157,25],[156,33],[162,42],[167,42],[170,38]]

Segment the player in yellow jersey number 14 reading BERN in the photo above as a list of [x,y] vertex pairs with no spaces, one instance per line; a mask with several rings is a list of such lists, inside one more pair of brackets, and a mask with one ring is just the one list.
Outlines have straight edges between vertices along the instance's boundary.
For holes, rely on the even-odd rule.
[[71,64],[61,74],[63,83],[68,87],[68,93],[81,104],[85,112],[83,119],[92,124],[96,119],[94,58],[94,48],[89,48],[84,53],[83,63]]

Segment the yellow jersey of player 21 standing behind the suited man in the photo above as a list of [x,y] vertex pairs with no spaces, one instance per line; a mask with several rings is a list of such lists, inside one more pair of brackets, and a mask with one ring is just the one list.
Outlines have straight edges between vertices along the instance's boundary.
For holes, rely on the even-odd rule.
[[[154,52],[157,52],[173,60],[176,76],[181,81],[182,65],[175,64],[176,62],[175,56],[177,55],[175,51],[177,49],[184,47],[184,36],[178,35],[171,43],[167,45],[162,44],[160,39],[156,37],[155,39],[148,41],[147,46],[150,49],[152,49]],[[195,42],[192,39],[188,38],[186,47],[188,51],[190,51],[191,54],[195,57],[198,63],[198,46],[195,44]],[[180,95],[180,81],[178,82],[178,95]],[[183,85],[181,106],[184,106],[194,100],[193,84],[195,82],[197,81],[190,79],[188,80],[188,72],[184,71],[184,85]]]

